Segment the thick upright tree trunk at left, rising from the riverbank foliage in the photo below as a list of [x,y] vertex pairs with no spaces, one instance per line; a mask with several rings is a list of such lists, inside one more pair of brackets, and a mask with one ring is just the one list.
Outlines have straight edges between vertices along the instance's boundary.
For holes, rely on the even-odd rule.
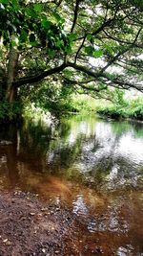
[[17,63],[18,63],[18,51],[17,49],[10,47],[10,55],[8,62],[8,75],[7,75],[7,91],[6,91],[6,100],[11,103],[17,94],[17,88],[13,86],[13,81],[17,73]]

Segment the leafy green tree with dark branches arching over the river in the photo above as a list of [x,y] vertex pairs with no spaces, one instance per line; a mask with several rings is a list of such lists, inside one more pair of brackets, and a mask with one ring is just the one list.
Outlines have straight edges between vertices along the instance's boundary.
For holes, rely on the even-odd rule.
[[110,97],[143,91],[143,4],[139,0],[0,0],[1,99],[37,83]]

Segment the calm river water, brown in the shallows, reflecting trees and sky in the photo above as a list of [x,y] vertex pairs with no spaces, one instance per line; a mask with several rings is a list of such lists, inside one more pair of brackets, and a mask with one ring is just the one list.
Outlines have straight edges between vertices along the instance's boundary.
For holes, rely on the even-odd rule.
[[143,124],[76,116],[1,127],[0,140],[0,188],[69,209],[77,255],[143,255]]

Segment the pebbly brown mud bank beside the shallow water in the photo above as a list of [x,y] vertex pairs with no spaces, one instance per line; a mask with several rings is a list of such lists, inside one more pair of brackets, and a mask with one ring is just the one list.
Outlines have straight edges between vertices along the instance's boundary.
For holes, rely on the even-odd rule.
[[36,196],[1,192],[0,255],[70,255],[66,234],[71,223],[68,211]]

